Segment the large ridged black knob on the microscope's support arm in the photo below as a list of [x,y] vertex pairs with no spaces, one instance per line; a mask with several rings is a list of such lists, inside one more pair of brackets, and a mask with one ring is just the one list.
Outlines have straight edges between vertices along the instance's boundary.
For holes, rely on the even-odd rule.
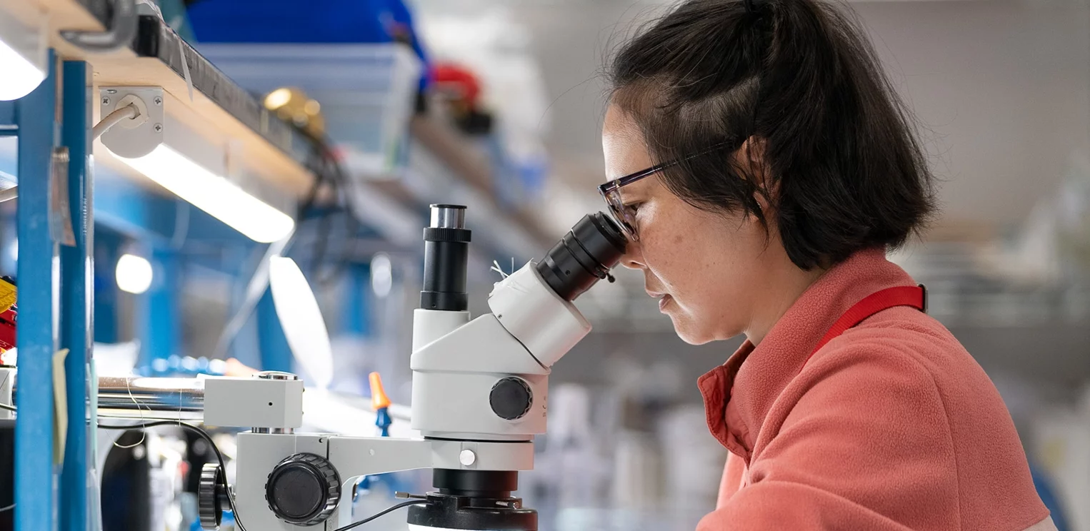
[[295,454],[272,468],[265,482],[265,501],[288,523],[317,526],[340,503],[340,476],[325,457]]

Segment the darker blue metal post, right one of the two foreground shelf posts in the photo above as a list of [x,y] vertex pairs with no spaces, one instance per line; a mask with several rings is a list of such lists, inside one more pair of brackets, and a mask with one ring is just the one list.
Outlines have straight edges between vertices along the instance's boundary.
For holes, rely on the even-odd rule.
[[95,276],[94,219],[90,193],[90,69],[83,61],[66,61],[63,66],[61,143],[69,149],[69,206],[72,213],[74,247],[61,248],[61,347],[68,348],[64,360],[68,396],[68,442],[61,470],[60,529],[87,529],[87,467],[90,434],[95,428],[87,418],[87,362],[94,344],[92,324]]

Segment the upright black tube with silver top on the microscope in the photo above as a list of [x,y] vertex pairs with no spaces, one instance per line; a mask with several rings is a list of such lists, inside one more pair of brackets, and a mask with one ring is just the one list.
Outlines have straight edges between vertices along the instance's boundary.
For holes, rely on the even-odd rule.
[[470,236],[465,207],[432,205],[432,223],[424,229],[424,289],[420,307],[425,310],[463,311],[469,307],[465,270]]

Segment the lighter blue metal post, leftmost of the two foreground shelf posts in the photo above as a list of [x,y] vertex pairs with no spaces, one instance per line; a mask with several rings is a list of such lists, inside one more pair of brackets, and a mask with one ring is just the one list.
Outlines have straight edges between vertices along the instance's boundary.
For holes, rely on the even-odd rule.
[[49,231],[50,160],[57,146],[56,55],[38,88],[19,100],[19,388],[15,421],[15,531],[56,524],[53,353],[57,244]]

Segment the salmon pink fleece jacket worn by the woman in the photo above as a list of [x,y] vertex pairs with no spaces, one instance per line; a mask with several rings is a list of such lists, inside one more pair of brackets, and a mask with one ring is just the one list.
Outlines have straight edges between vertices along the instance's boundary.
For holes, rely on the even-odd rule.
[[698,531],[1055,530],[1003,399],[937,321],[894,307],[814,351],[856,302],[913,285],[857,252],[701,376],[729,455]]

